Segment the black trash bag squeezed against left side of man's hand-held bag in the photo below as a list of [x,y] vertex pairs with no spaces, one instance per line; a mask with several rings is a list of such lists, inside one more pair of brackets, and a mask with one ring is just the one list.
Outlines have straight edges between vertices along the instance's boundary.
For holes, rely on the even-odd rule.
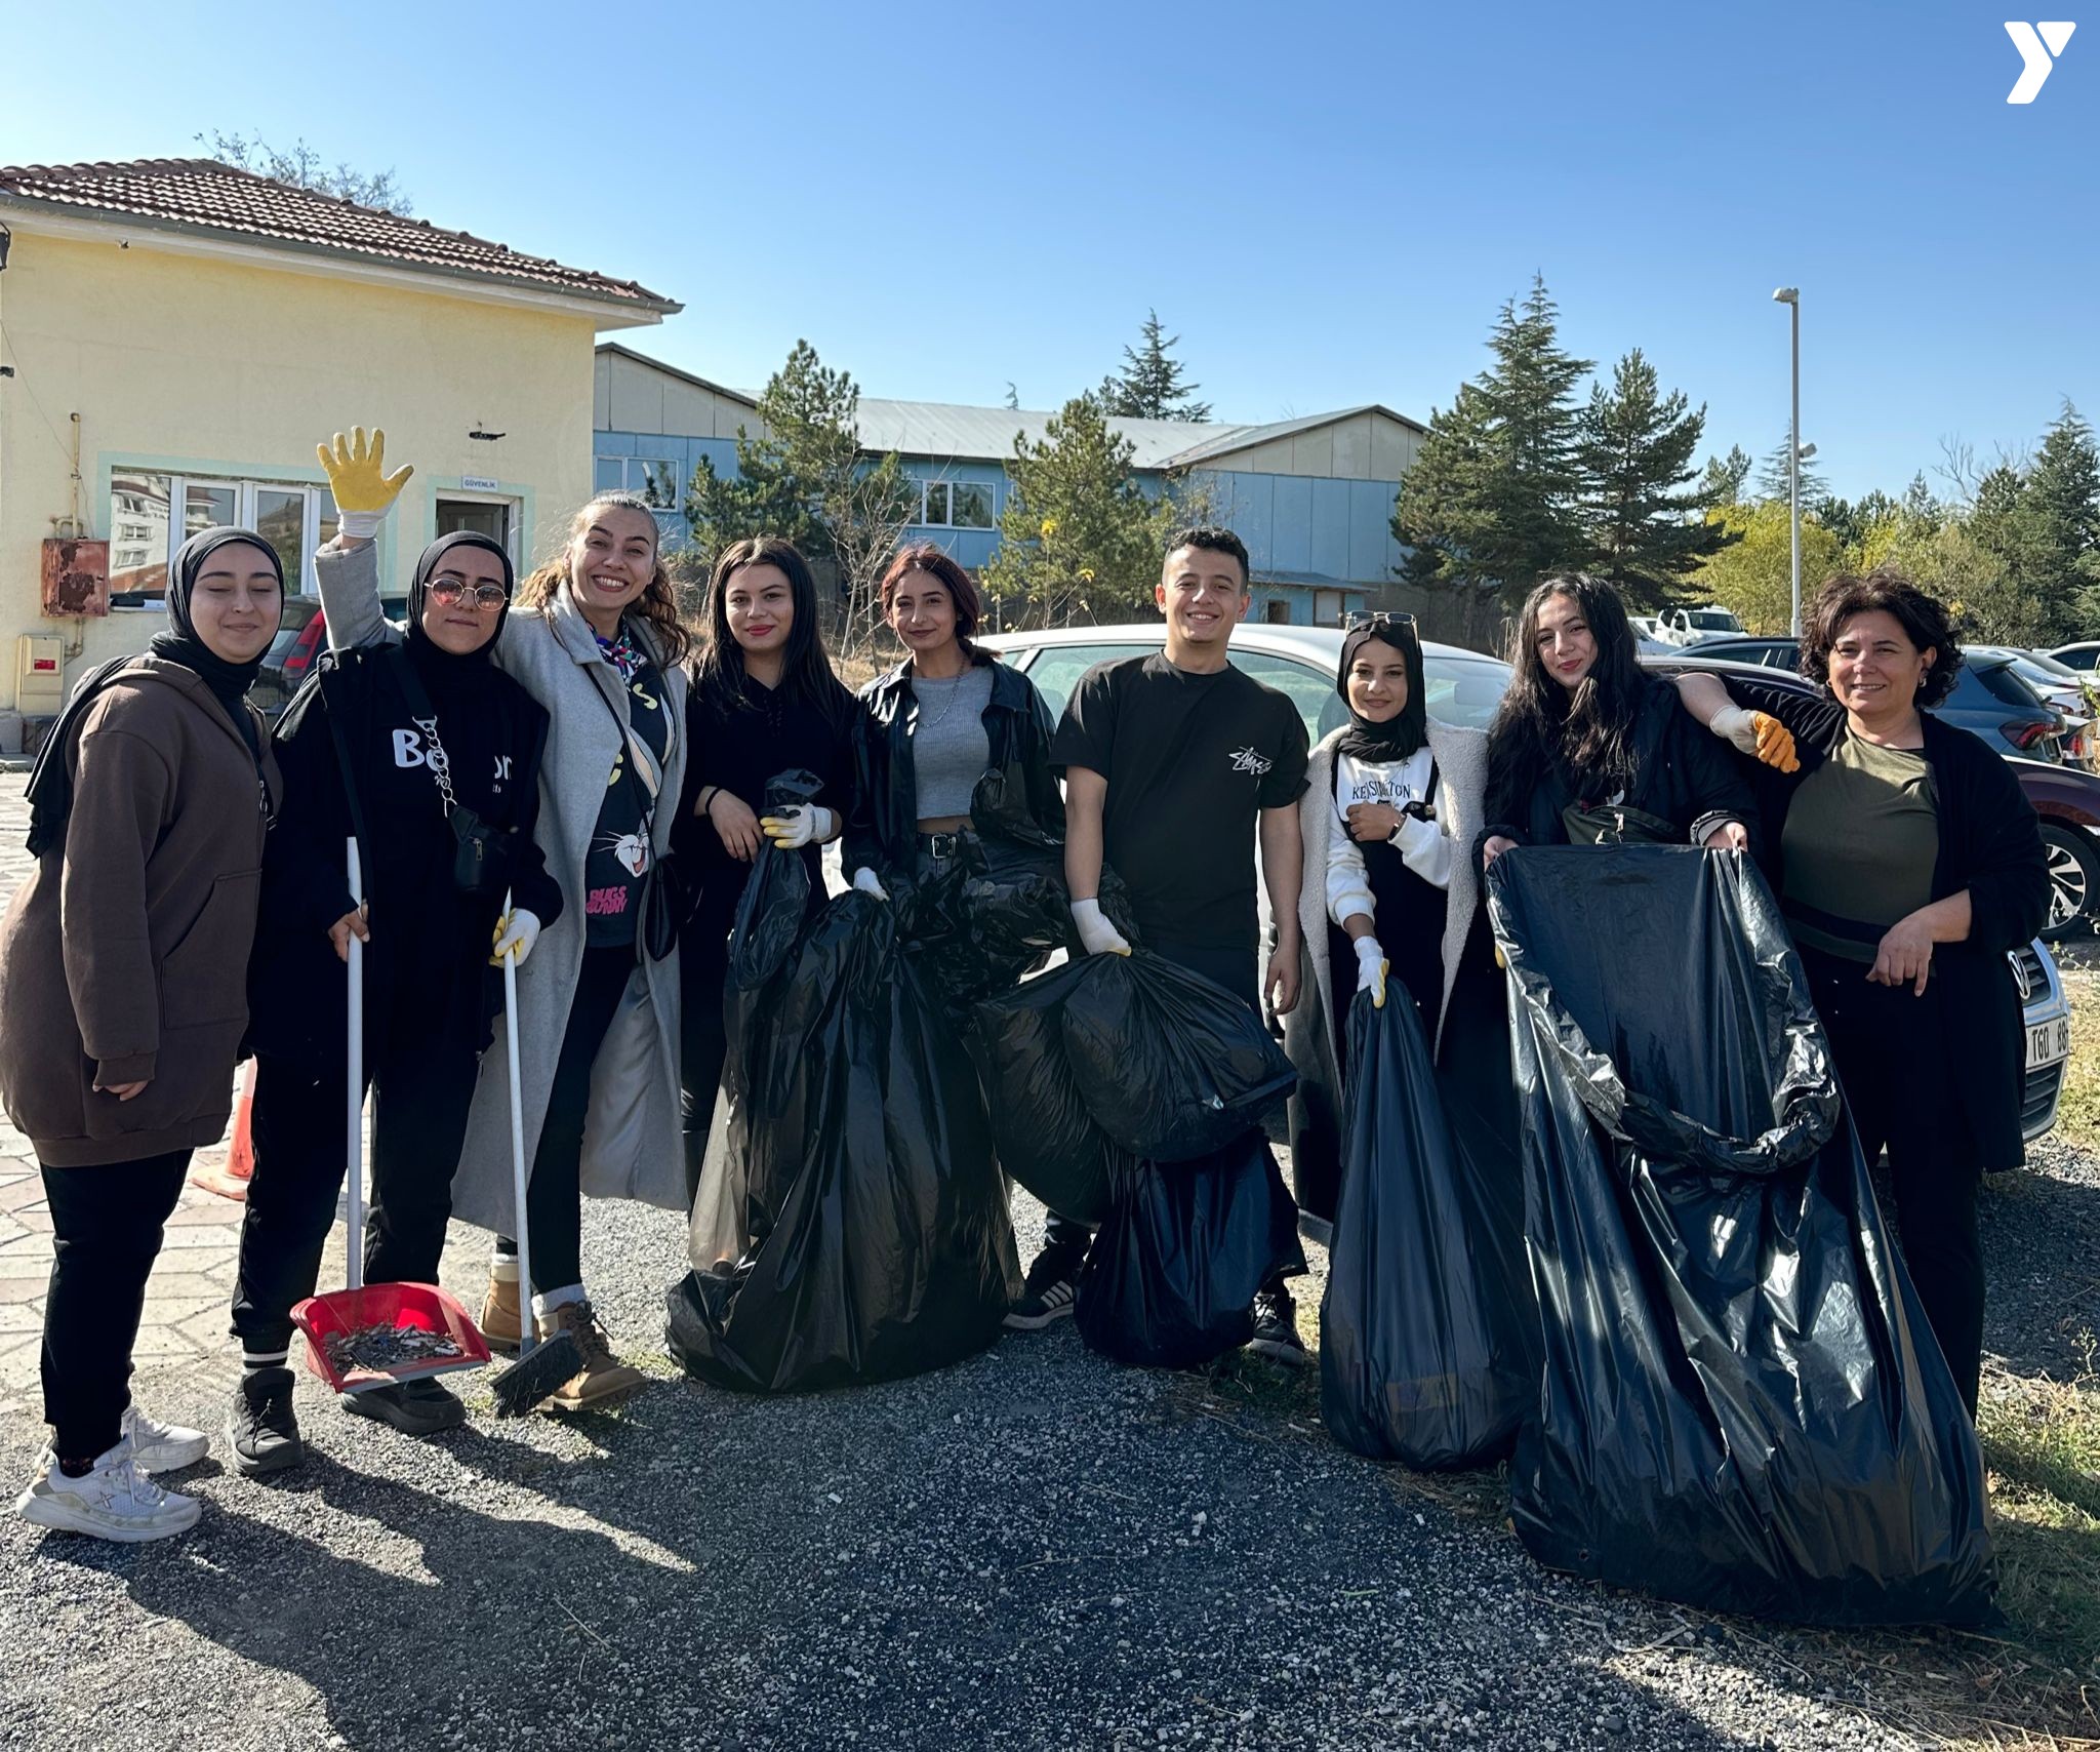
[[1065,1061],[1065,998],[1086,975],[1067,962],[972,1013],[970,1046],[1000,1166],[1060,1216],[1100,1223],[1121,1151],[1094,1124]]

